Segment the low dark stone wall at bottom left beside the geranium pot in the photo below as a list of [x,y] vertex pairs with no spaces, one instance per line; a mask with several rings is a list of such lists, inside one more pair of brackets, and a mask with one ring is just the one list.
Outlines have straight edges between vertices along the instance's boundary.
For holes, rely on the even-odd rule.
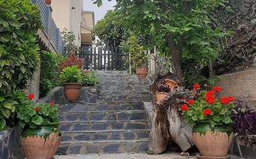
[[24,158],[19,140],[18,127],[0,131],[0,159]]

